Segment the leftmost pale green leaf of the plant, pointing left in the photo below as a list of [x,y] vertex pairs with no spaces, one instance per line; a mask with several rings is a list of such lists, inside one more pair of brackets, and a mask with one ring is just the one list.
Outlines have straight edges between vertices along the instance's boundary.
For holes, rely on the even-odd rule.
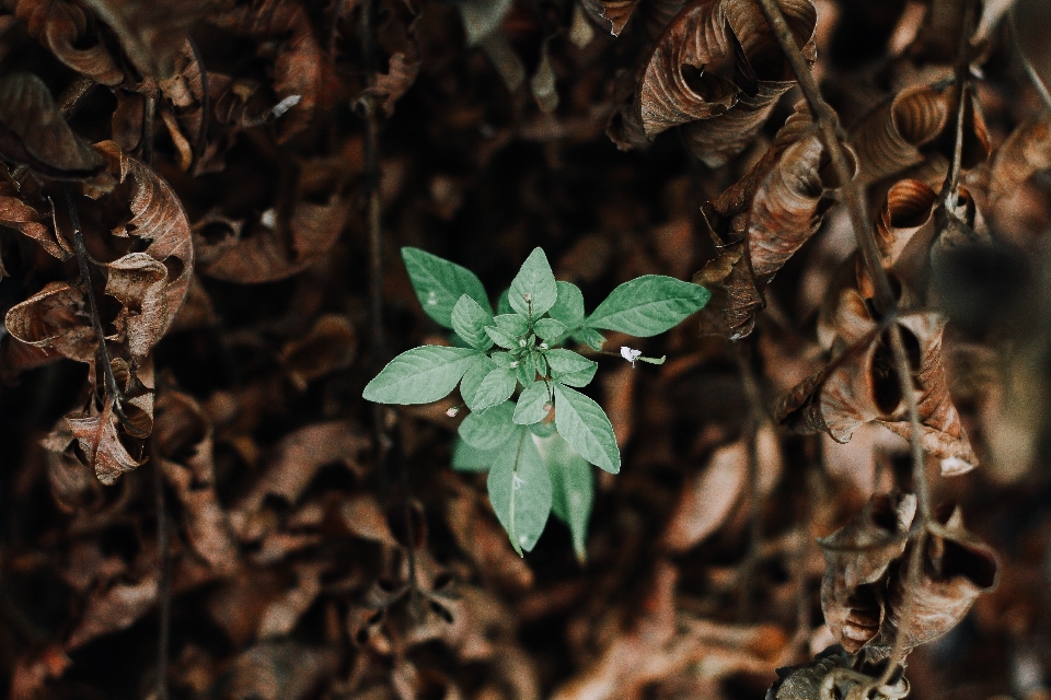
[[361,396],[377,404],[430,404],[448,396],[464,373],[484,358],[471,348],[413,348],[391,360]]

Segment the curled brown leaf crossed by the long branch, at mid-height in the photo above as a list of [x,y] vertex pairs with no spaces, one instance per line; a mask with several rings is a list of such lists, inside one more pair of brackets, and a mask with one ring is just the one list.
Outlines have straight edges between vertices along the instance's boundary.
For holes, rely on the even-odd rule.
[[[945,378],[945,318],[933,312],[906,314],[898,324],[919,392],[924,450],[942,460],[943,474],[962,474],[978,464],[978,457]],[[782,398],[775,411],[778,420],[797,430],[827,432],[838,442],[850,441],[862,423],[879,421],[908,439],[911,430],[889,334],[873,319],[856,290],[841,295],[834,327],[831,362]]]

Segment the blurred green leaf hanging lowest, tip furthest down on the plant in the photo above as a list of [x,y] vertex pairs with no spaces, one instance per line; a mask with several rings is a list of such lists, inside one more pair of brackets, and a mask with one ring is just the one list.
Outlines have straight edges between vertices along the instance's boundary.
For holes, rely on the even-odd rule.
[[594,502],[594,475],[588,460],[578,455],[562,435],[536,440],[536,447],[551,475],[551,511],[569,526],[573,549],[582,563],[591,505]]

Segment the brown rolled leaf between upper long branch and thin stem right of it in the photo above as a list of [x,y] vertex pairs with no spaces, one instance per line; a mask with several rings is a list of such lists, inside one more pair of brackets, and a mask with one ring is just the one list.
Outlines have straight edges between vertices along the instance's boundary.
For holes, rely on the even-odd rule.
[[905,88],[870,112],[851,131],[861,184],[902,173],[923,161],[920,147],[946,126],[948,104],[927,85]]

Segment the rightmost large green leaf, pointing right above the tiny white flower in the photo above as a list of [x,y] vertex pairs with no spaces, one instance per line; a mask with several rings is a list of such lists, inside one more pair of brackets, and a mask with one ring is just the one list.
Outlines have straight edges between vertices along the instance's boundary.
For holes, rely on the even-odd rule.
[[613,290],[588,317],[591,328],[620,330],[631,336],[656,336],[701,311],[712,292],[692,282],[662,275],[645,275]]

